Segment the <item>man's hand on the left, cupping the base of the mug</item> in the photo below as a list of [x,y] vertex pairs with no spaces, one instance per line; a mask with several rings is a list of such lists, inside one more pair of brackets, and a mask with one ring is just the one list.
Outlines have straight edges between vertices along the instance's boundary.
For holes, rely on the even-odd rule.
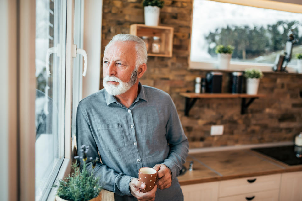
[[140,189],[146,188],[146,184],[138,181],[137,178],[131,179],[130,183],[130,192],[131,194],[138,199],[138,201],[154,201],[155,200],[155,192],[157,189],[157,185],[155,184],[151,191],[143,193]]

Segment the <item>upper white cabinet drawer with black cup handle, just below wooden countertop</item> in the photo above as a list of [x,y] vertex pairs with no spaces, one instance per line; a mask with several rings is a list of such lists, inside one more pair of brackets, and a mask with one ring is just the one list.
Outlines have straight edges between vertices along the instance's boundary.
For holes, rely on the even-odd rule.
[[219,197],[278,189],[281,174],[246,177],[220,182]]

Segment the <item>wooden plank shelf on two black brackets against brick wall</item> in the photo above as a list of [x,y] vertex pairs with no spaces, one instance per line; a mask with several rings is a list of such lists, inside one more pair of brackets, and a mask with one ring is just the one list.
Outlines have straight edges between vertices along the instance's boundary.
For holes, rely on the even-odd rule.
[[[249,95],[244,93],[180,93],[185,97],[185,116],[189,116],[189,111],[199,98],[241,98],[241,114],[245,114],[249,105],[253,103],[256,98],[265,97],[265,94]],[[250,98],[246,102],[246,98]]]

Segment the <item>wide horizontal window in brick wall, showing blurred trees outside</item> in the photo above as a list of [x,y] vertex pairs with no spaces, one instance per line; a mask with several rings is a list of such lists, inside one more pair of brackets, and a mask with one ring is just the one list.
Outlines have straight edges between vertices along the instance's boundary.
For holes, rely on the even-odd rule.
[[283,3],[287,6],[284,6],[286,11],[282,11],[280,2],[271,1],[266,5],[264,1],[253,0],[249,6],[234,4],[236,2],[194,0],[190,68],[215,69],[215,47],[223,44],[235,47],[230,70],[257,67],[271,71],[277,55],[285,50],[290,29],[299,38],[293,46],[287,70],[294,68],[295,54],[302,51],[302,6]]

